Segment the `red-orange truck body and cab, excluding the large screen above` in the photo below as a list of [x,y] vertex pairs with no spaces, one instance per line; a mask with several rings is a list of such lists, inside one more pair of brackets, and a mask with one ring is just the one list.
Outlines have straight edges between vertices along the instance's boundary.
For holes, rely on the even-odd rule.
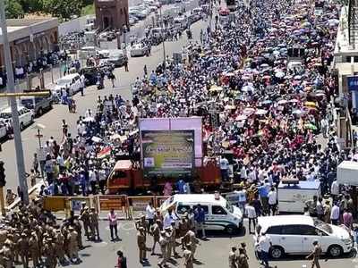
[[[190,184],[199,191],[200,188],[214,189],[220,185],[221,174],[216,161],[203,163],[195,167],[192,172]],[[185,179],[183,177],[183,179]],[[179,178],[148,177],[144,175],[141,166],[132,160],[118,160],[107,178],[108,194],[141,194],[149,190],[156,192],[167,181],[174,183]]]

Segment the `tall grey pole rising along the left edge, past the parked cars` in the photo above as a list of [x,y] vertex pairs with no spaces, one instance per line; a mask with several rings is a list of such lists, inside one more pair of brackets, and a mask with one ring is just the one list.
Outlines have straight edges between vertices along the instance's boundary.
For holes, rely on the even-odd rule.
[[[14,93],[15,85],[13,80],[13,64],[12,64],[12,58],[10,53],[9,38],[7,37],[4,0],[0,0],[0,24],[1,24],[2,35],[3,35],[4,61],[5,61],[5,69],[7,75],[7,91],[10,93]],[[14,96],[10,97],[10,104],[11,104],[12,118],[13,118],[13,139],[15,143],[19,186],[23,195],[23,202],[26,205],[28,205],[29,191],[28,191],[28,182],[26,180],[25,163],[23,159],[21,130],[20,130],[20,123],[19,123],[19,114],[17,112],[16,97]]]

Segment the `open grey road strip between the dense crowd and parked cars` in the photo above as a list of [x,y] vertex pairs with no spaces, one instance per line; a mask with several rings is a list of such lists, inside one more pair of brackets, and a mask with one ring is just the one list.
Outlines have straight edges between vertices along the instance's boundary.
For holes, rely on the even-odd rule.
[[[199,21],[192,25],[193,38],[199,39],[200,29],[207,27],[207,22]],[[180,51],[185,44],[188,43],[186,35],[176,42],[166,42],[166,54],[172,55],[174,52]],[[105,82],[105,89],[98,91],[96,87],[90,87],[85,90],[85,96],[75,96],[74,99],[77,102],[78,113],[68,113],[68,109],[64,105],[54,105],[54,109],[40,118],[36,119],[46,126],[46,130],[43,131],[44,140],[47,140],[51,136],[57,141],[61,141],[61,121],[65,119],[72,131],[72,135],[75,134],[75,122],[78,117],[85,113],[86,109],[95,109],[95,102],[98,96],[105,96],[109,94],[119,94],[125,99],[131,99],[130,85],[134,80],[142,76],[143,66],[147,65],[148,71],[154,70],[159,63],[163,61],[162,45],[152,47],[150,57],[136,57],[130,58],[129,72],[125,72],[124,68],[115,70],[116,87],[112,88],[109,81]],[[31,127],[22,131],[22,143],[25,155],[26,170],[30,171],[30,165],[32,162],[32,155],[38,148],[38,140],[34,137],[35,130]],[[74,135],[75,136],[75,135]],[[4,161],[4,168],[6,173],[7,185],[6,187],[16,189],[18,186],[15,150],[13,140],[8,140],[3,144],[3,151],[0,152],[0,159]]]

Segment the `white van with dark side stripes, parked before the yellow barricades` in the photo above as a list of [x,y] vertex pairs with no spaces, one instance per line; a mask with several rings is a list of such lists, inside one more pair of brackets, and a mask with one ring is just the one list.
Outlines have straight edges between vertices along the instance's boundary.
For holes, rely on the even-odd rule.
[[232,234],[243,227],[243,214],[240,209],[230,205],[224,197],[219,195],[175,195],[166,199],[160,206],[160,210],[163,213],[172,207],[180,218],[190,208],[195,210],[198,204],[206,214],[204,224],[206,230],[226,230],[227,233]]

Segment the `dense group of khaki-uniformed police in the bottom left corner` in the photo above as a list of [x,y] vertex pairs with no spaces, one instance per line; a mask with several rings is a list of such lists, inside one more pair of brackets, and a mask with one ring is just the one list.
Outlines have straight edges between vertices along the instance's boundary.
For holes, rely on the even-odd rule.
[[[57,264],[79,264],[78,251],[83,248],[84,235],[99,239],[98,214],[94,208],[82,205],[80,216],[73,211],[59,222],[55,215],[43,209],[40,198],[30,205],[20,205],[9,214],[0,230],[0,265],[13,268],[15,264],[30,267],[56,267]],[[97,226],[97,227],[96,227]],[[97,234],[97,238],[96,238]]]

